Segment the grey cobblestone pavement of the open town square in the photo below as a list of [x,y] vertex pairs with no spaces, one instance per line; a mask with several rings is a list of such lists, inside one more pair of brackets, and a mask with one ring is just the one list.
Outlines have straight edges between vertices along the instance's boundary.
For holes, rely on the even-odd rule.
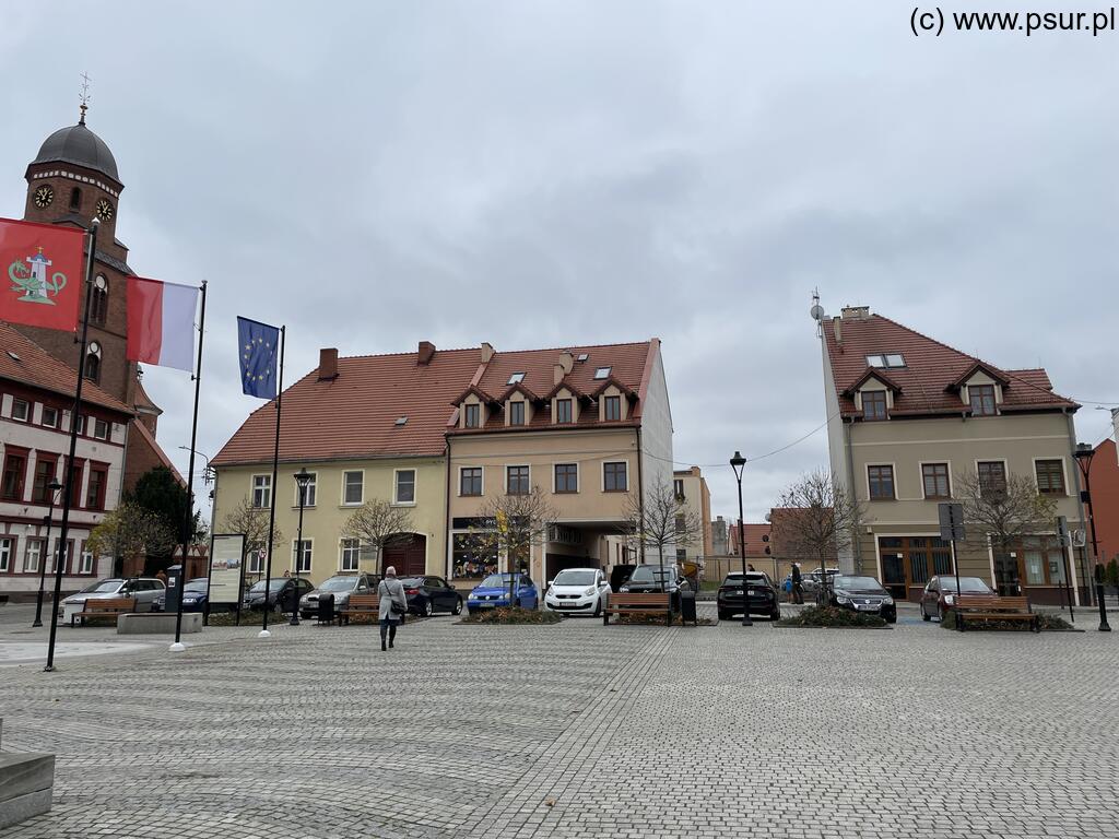
[[4,839],[1117,835],[1115,634],[275,629],[0,670]]

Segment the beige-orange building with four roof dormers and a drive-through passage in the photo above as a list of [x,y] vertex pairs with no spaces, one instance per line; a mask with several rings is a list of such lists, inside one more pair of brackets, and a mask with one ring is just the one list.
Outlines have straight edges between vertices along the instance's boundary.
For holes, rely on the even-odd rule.
[[[565,567],[638,560],[622,536],[631,497],[671,480],[673,439],[660,341],[497,352],[455,399],[446,431],[448,574],[477,579],[508,557],[478,556],[495,497],[538,488],[557,513],[524,558],[546,582]],[[673,550],[669,555],[675,555]]]

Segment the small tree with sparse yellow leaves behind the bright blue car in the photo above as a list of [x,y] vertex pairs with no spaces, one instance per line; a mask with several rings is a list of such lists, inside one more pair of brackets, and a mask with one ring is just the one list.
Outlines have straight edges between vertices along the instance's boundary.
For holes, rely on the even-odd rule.
[[506,558],[509,571],[509,605],[516,603],[517,571],[527,564],[533,546],[548,540],[548,526],[556,511],[539,487],[527,493],[493,496],[479,510],[486,522],[471,528],[470,547],[477,554]]

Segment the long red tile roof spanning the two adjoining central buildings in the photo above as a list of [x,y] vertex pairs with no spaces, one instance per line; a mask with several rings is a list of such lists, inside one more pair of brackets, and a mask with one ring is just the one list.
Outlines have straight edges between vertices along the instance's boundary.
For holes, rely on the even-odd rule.
[[[591,389],[595,367],[612,367],[612,374],[637,390],[647,378],[659,342],[621,343],[570,348],[577,358],[568,379],[581,389]],[[393,455],[440,455],[446,433],[481,433],[504,428],[501,412],[493,412],[486,426],[460,430],[452,425],[453,404],[471,386],[482,394],[504,394],[514,373],[525,374],[525,387],[534,393],[552,389],[553,365],[562,349],[496,352],[482,366],[478,348],[435,350],[426,365],[416,353],[357,356],[338,359],[338,377],[320,381],[312,370],[283,393],[280,459],[332,460]],[[639,416],[640,403],[634,409]],[[547,425],[548,412],[537,411],[525,430]],[[593,416],[592,416],[593,413]],[[396,420],[407,416],[398,426]],[[632,425],[609,423],[611,426]],[[583,425],[598,423],[598,412],[585,412]],[[274,403],[254,411],[214,458],[218,466],[265,463],[272,460],[275,439]]]

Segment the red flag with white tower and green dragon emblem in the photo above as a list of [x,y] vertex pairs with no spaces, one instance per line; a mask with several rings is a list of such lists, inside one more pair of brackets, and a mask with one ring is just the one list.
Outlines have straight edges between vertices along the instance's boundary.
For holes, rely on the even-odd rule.
[[85,230],[0,218],[0,320],[77,329]]

